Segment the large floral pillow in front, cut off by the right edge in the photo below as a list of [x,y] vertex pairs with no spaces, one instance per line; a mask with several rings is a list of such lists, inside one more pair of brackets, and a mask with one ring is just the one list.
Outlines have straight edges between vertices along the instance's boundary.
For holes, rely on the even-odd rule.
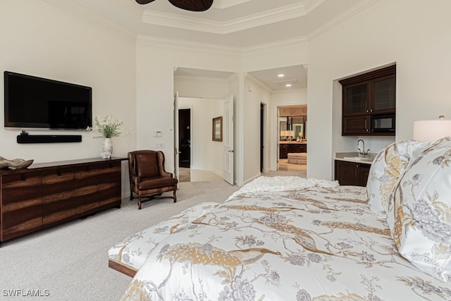
[[406,168],[387,222],[403,257],[428,275],[451,279],[451,137],[436,141]]

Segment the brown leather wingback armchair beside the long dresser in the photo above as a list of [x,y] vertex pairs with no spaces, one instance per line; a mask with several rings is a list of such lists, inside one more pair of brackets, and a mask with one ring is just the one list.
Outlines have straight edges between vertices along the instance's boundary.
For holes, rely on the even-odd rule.
[[[138,197],[138,209],[141,203],[154,199],[163,192],[173,191],[174,203],[177,202],[175,191],[178,180],[164,169],[164,154],[161,151],[137,150],[128,153],[128,172],[130,176],[130,200],[133,193]],[[149,198],[142,200],[142,197]]]

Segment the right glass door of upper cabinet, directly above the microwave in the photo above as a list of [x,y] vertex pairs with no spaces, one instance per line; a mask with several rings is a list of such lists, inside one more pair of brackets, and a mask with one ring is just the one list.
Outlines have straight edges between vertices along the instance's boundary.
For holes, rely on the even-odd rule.
[[394,111],[396,107],[396,79],[386,76],[373,80],[373,111]]

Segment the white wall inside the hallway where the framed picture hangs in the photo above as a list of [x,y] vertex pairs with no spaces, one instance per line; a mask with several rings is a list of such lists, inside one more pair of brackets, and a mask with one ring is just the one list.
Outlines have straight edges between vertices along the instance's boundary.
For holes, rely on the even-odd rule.
[[223,142],[212,140],[212,120],[223,116],[223,99],[180,97],[179,109],[191,109],[191,168],[223,176]]

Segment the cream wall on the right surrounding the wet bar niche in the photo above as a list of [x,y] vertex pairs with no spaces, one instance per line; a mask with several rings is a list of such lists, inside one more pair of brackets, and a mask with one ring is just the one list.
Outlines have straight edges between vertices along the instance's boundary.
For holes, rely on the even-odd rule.
[[309,176],[333,178],[333,153],[357,147],[357,137],[340,136],[334,80],[395,62],[396,140],[412,138],[413,121],[451,111],[450,10],[446,0],[382,0],[309,43]]

